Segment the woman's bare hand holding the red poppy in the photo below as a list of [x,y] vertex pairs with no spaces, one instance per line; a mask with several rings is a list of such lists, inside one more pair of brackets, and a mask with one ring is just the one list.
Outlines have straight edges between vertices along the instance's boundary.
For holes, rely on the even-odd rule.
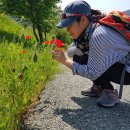
[[52,54],[53,54],[53,59],[54,60],[57,60],[61,63],[64,63],[66,61],[66,57],[65,57],[65,54],[63,52],[63,50],[61,49],[54,49],[52,51]]

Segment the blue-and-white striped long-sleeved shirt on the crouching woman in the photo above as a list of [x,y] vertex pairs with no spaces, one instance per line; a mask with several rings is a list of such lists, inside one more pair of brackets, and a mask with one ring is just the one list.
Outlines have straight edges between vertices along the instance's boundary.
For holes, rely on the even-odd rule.
[[129,43],[115,30],[104,25],[98,26],[89,42],[87,65],[73,62],[74,75],[95,80],[116,62],[125,64],[130,73]]

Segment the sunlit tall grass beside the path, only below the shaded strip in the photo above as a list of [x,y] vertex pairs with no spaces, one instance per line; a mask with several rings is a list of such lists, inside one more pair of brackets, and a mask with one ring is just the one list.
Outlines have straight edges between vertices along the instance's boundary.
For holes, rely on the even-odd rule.
[[[18,129],[25,108],[56,73],[49,46],[0,43],[0,129]],[[49,71],[48,71],[49,70]]]

